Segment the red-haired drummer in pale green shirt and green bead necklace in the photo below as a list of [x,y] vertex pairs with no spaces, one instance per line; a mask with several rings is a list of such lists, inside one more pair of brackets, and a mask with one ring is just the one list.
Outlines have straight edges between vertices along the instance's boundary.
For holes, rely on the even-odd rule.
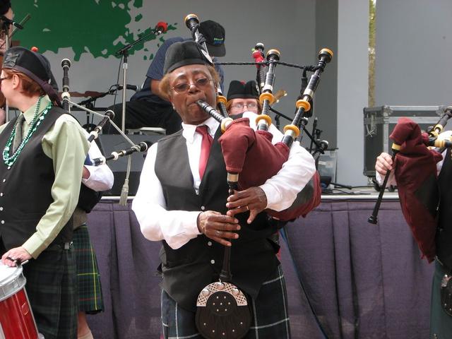
[[89,143],[65,114],[41,54],[6,51],[1,92],[20,114],[0,126],[1,263],[23,266],[37,328],[44,338],[77,338],[76,274],[71,245]]

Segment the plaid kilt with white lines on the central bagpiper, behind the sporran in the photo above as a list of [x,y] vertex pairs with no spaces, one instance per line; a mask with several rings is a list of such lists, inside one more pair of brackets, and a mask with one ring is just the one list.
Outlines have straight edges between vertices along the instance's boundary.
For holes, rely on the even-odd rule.
[[[251,300],[251,316],[251,328],[245,339],[290,338],[287,291],[281,266],[263,283],[257,299]],[[179,307],[165,290],[162,290],[162,331],[165,339],[203,338],[196,329],[195,314]]]

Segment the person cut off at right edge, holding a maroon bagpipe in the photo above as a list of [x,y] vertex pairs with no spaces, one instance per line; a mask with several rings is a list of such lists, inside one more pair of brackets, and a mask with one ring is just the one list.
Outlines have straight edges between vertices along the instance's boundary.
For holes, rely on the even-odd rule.
[[375,164],[380,183],[389,175],[386,185],[398,186],[403,215],[422,256],[435,261],[429,338],[452,338],[452,161],[450,148],[437,152],[426,144],[441,145],[451,135],[441,133],[432,143],[414,121],[401,118],[391,134],[396,155],[381,153]]

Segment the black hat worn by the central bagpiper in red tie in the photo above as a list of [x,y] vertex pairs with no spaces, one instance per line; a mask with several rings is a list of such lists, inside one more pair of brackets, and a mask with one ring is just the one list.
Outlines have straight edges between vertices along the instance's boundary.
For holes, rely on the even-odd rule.
[[192,40],[174,42],[167,49],[163,73],[170,73],[179,67],[196,64],[213,66],[208,54],[196,42]]

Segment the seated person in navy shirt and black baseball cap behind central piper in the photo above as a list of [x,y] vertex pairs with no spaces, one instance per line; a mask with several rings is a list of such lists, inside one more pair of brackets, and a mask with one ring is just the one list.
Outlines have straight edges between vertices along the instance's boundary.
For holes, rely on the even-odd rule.
[[[211,57],[224,57],[225,29],[213,20],[200,23],[199,32],[206,38],[206,45]],[[174,112],[172,105],[165,98],[165,94],[159,90],[159,83],[163,77],[163,65],[165,54],[169,46],[174,42],[191,40],[191,38],[172,37],[166,40],[157,50],[151,62],[143,88],[134,94],[130,101],[126,102],[126,129],[140,129],[141,127],[161,127],[167,134],[172,134],[181,129],[181,119]],[[215,66],[220,74],[220,84],[223,83],[223,71],[220,66]],[[122,104],[117,104],[108,109],[114,111],[114,123],[121,126]],[[117,133],[112,127],[107,133]]]

